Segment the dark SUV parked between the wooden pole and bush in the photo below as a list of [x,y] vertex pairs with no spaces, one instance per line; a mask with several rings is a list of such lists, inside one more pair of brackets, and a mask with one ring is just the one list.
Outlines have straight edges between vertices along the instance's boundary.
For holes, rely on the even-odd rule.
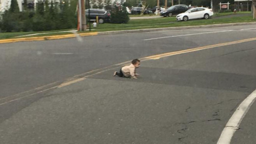
[[[85,10],[86,18],[89,17],[89,10]],[[98,16],[99,24],[104,22],[110,22],[110,12],[102,9],[92,9],[90,8],[90,20],[96,21],[96,16]]]

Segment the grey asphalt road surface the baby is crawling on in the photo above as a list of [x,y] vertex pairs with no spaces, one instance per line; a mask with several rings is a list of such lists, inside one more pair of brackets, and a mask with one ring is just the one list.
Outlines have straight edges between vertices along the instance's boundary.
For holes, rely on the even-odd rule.
[[[256,89],[250,38],[256,25],[0,44],[0,144],[216,144]],[[137,80],[112,77],[134,58]],[[230,144],[254,144],[255,110]]]

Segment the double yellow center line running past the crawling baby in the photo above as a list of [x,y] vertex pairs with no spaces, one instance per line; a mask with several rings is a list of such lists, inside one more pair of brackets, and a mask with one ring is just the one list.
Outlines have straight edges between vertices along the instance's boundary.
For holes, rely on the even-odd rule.
[[[146,61],[146,60],[156,60],[156,59],[163,58],[163,57],[167,57],[167,56],[173,56],[173,55],[177,55],[177,54],[184,54],[184,53],[188,53],[188,52],[196,52],[196,51],[199,51],[199,50],[205,50],[205,49],[209,49],[209,48],[216,48],[216,47],[220,47],[220,46],[227,46],[227,45],[231,45],[231,44],[239,44],[239,43],[250,42],[250,41],[254,41],[254,40],[256,40],[256,38],[248,38],[248,39],[244,39],[244,40],[237,40],[237,41],[234,41],[234,42],[226,42],[226,43],[222,43],[222,44],[214,44],[214,45],[210,45],[210,46],[202,46],[202,47],[199,47],[199,48],[192,48],[192,49],[188,49],[188,50],[180,50],[180,51],[176,51],[176,52],[167,52],[167,53],[164,53],[164,54],[156,54],[156,55],[153,55],[153,56],[147,56],[147,57],[144,57],[144,58],[140,58],[140,60],[142,60],[142,61]],[[130,62],[130,61],[128,61],[128,62]],[[128,63],[128,62],[122,62],[122,63],[119,63],[119,64],[114,64],[114,65],[111,65],[111,66],[107,66],[107,67],[105,67],[105,68],[100,68],[100,69],[97,69],[97,70],[92,70],[92,71],[90,71],[90,72],[83,73],[83,74],[88,74],[88,73],[91,73],[91,72],[96,72],[96,71],[98,71],[98,70],[101,70],[100,72],[96,72],[96,73],[94,73],[94,74],[90,74],[90,75],[88,75],[88,76],[84,76],[83,78],[75,79],[76,76],[82,76],[83,74],[79,74],[79,75],[73,76],[73,77],[67,79],[67,80],[71,80],[71,81],[64,82],[64,83],[60,84],[59,86],[54,86],[54,87],[48,88],[48,89],[46,89],[46,90],[50,90],[50,89],[53,89],[53,88],[62,88],[62,87],[64,87],[64,86],[68,86],[68,85],[70,85],[70,84],[74,84],[74,83],[76,83],[76,82],[80,82],[80,81],[85,80],[86,78],[88,78],[88,77],[90,77],[90,76],[94,76],[94,75],[96,75],[96,74],[100,74],[100,73],[106,72],[106,71],[108,71],[108,70],[116,69],[116,68],[118,68],[119,66],[121,66],[122,64],[126,64],[126,63]],[[112,67],[112,66],[118,66],[118,67],[110,68],[110,67]],[[106,68],[107,68],[107,69],[106,69]],[[110,68],[110,69],[108,69],[108,68]],[[106,69],[106,70],[104,70],[104,69]],[[72,80],[72,79],[75,79],[75,80]],[[54,83],[56,83],[56,82],[54,82]],[[52,83],[52,84],[53,84],[53,83]],[[48,85],[50,85],[50,84],[48,84]],[[46,85],[46,86],[47,86],[47,85]],[[40,87],[39,87],[39,88],[36,88],[36,89],[40,89]],[[36,90],[36,89],[34,89],[34,90]],[[46,91],[46,90],[42,90],[42,91],[40,91],[40,92],[44,92],[44,91]],[[30,90],[30,91],[31,91],[31,90]],[[26,91],[26,92],[28,92],[28,91]],[[26,92],[23,92],[23,93],[26,93]],[[28,96],[32,96],[32,95],[38,94],[38,93],[40,93],[40,92],[36,92],[36,93],[30,94],[30,95],[28,95]],[[23,94],[23,93],[20,93],[20,94]],[[16,94],[16,95],[18,95],[18,94]],[[14,96],[15,96],[15,95],[14,95]],[[20,99],[25,98],[25,97],[28,97],[28,96],[23,96],[23,97],[21,97],[21,98],[16,98],[16,99],[14,99],[14,100],[10,100],[10,101],[8,101],[8,102],[5,102],[5,103],[0,104],[0,106],[3,105],[3,104],[7,104],[7,103],[9,103],[9,102],[13,102],[13,101],[15,101],[15,100],[20,100]],[[6,97],[6,98],[8,98],[8,97]],[[3,98],[3,99],[5,99],[5,98]],[[0,100],[2,100],[2,99],[0,99]]]

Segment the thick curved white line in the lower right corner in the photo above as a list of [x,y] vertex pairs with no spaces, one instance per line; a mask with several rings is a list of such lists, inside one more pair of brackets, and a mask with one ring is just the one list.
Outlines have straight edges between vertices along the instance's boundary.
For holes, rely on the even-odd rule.
[[236,109],[232,117],[229,119],[225,128],[223,129],[217,144],[230,144],[232,136],[239,129],[244,116],[252,106],[256,99],[256,90],[252,92]]

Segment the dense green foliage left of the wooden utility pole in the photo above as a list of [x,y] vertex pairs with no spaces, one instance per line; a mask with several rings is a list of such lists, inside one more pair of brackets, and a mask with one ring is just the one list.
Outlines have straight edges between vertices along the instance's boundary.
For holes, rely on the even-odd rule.
[[2,32],[48,31],[77,26],[76,0],[63,3],[39,1],[35,12],[28,11],[26,0],[24,3],[24,12],[19,11],[17,0],[12,0],[11,8],[0,15]]

